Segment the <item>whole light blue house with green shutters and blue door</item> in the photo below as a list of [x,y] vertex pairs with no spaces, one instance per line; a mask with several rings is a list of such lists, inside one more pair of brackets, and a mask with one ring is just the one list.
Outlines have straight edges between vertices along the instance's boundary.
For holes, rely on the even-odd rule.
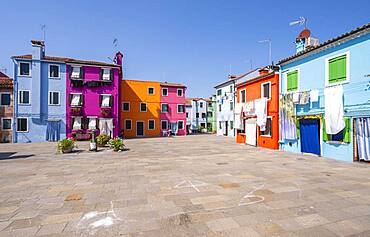
[[[278,63],[280,148],[348,162],[368,160],[370,24],[319,45],[310,45],[307,36],[297,38],[299,44],[305,41],[303,51]],[[333,91],[341,99],[333,99],[338,98],[332,97]],[[338,122],[331,122],[330,128],[343,121],[344,128],[336,134],[327,133],[325,117],[331,111],[338,113]]]

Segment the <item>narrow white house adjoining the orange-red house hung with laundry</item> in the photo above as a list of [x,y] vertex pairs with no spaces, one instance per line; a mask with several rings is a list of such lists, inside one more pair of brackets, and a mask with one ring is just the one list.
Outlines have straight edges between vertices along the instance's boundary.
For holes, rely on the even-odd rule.
[[239,82],[258,76],[254,69],[240,76],[229,75],[229,79],[214,88],[216,89],[217,135],[234,137],[235,85]]

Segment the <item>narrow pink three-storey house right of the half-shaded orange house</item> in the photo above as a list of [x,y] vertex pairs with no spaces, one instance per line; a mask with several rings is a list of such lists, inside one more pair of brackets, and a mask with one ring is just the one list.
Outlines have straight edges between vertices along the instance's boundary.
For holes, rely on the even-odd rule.
[[161,135],[186,135],[186,86],[161,83]]

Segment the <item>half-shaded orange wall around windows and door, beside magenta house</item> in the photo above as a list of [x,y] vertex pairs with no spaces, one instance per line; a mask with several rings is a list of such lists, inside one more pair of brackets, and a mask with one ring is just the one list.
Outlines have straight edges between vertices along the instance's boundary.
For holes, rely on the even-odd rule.
[[[154,95],[148,95],[148,88],[154,88]],[[121,131],[125,138],[136,137],[136,121],[144,122],[144,136],[160,135],[160,83],[149,81],[123,80],[121,86]],[[122,110],[122,103],[130,102],[130,111]],[[140,103],[146,102],[147,112],[140,112]],[[132,129],[126,130],[124,121],[132,120]],[[155,129],[148,129],[148,120],[155,120]]]

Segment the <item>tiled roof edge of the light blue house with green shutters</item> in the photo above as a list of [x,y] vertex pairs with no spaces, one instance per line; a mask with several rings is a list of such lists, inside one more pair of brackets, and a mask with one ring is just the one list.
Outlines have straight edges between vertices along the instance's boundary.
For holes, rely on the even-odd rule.
[[301,51],[293,56],[290,56],[288,58],[282,59],[278,62],[278,64],[286,64],[288,62],[298,60],[300,58],[305,57],[307,54],[310,53],[318,53],[320,50],[324,50],[327,48],[331,48],[337,45],[337,43],[343,43],[350,39],[353,39],[354,37],[361,36],[363,34],[368,34],[370,32],[370,23],[367,23],[363,26],[360,26],[354,30],[351,30],[347,33],[344,33],[338,37],[332,38],[330,40],[325,41],[324,43],[321,43],[317,46],[311,47],[309,49],[306,49],[304,51]]

